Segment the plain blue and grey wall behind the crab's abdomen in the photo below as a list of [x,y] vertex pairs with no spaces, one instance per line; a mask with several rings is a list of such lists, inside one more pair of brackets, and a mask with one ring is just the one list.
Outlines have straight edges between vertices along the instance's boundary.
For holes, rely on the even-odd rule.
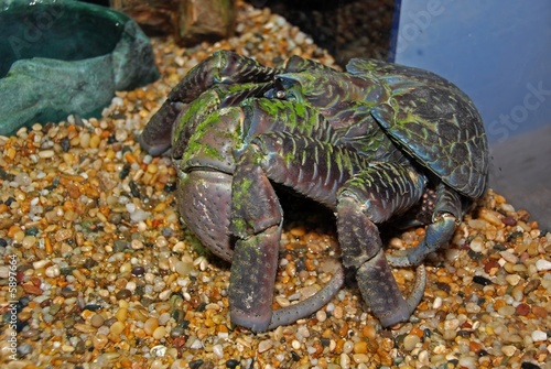
[[491,186],[551,226],[551,2],[401,0],[391,59],[466,91],[485,121]]

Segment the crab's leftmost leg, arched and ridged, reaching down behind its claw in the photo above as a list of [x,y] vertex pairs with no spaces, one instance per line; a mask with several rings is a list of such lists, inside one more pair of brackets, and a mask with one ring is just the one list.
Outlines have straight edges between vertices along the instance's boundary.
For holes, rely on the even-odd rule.
[[216,84],[263,83],[273,79],[277,69],[229,51],[218,51],[193,67],[169,94],[140,135],[140,143],[152,155],[171,145],[176,117],[191,101]]

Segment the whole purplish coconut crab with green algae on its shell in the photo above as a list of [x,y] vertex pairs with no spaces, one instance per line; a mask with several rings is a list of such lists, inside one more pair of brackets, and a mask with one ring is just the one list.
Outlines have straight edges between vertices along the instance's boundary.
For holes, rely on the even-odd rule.
[[[299,56],[278,69],[216,52],[170,93],[140,142],[154,155],[172,146],[181,216],[231,262],[231,322],[257,332],[312,314],[344,281],[336,263],[317,294],[272,311],[283,220],[273,184],[335,213],[343,264],[383,326],[412,314],[425,287],[421,262],[487,185],[471,99],[435,74],[374,59],[341,73]],[[377,226],[390,218],[428,224],[424,239],[386,256]],[[409,297],[390,265],[418,265]]]

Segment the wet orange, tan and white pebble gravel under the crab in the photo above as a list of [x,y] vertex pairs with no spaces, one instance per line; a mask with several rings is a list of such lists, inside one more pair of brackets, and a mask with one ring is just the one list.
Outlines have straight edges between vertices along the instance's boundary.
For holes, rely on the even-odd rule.
[[[334,64],[279,15],[238,7],[231,40],[193,50],[154,40],[163,79],[119,93],[104,118],[0,138],[2,368],[551,368],[551,234],[491,191],[426,260],[410,322],[382,329],[348,283],[294,325],[252,334],[230,324],[228,265],[182,228],[170,161],[134,134],[214,50]],[[317,220],[285,227],[276,306],[331,278],[325,260],[338,246]],[[389,248],[423,234],[399,234]],[[406,289],[413,274],[396,279]]]

